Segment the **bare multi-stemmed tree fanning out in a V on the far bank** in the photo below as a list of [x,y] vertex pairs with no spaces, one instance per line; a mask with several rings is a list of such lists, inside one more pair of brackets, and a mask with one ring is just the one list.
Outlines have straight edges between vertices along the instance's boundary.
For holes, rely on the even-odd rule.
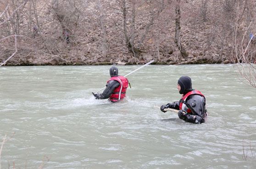
[[[161,0],[162,2],[164,0]],[[144,48],[145,39],[150,33],[150,29],[153,27],[154,22],[161,15],[165,5],[156,2],[145,2],[139,0],[117,0],[119,8],[122,12],[123,22],[123,34],[126,47],[133,53],[134,58],[141,54]],[[149,8],[145,8],[144,11],[139,10],[139,5],[149,4]],[[149,11],[146,11],[146,10]],[[142,17],[142,13],[147,13],[144,16],[143,22],[138,21],[138,18]],[[138,27],[141,27],[138,29]]]

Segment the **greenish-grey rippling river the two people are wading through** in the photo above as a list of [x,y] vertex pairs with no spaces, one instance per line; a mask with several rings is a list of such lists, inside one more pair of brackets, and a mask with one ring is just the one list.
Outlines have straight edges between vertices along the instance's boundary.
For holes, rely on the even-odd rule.
[[[116,104],[92,95],[110,67],[0,67],[2,169],[256,168],[256,89],[234,65],[149,65],[127,76]],[[126,75],[139,65],[117,67]],[[183,75],[206,96],[206,123],[158,109],[180,99]]]

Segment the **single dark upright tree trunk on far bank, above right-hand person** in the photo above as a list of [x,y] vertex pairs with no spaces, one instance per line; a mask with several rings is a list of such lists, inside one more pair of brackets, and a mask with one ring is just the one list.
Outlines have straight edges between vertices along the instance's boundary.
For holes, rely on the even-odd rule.
[[181,56],[182,57],[188,57],[188,53],[186,52],[186,50],[184,49],[184,47],[182,46],[181,42],[180,42],[180,0],[177,0],[177,5],[175,7],[175,39],[174,42],[176,44],[176,46],[178,47]]

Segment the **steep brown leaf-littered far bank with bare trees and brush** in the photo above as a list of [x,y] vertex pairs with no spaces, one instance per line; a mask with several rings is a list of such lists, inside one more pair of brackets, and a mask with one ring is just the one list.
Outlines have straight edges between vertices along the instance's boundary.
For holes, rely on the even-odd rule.
[[[254,0],[1,0],[2,65],[241,62]],[[254,40],[246,49],[256,62]],[[247,55],[248,54],[248,55]]]

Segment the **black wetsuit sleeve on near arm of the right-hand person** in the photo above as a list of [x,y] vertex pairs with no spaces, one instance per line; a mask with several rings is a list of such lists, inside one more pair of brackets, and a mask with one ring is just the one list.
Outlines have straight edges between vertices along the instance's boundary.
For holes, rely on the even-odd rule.
[[180,119],[190,123],[204,123],[206,117],[206,99],[200,95],[191,95],[187,98],[186,105],[192,110],[192,114],[179,113]]

